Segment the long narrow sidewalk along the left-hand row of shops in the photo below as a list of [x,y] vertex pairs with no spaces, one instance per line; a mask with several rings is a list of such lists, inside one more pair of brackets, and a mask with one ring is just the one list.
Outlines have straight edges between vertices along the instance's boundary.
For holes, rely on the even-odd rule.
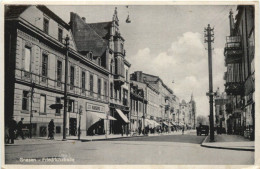
[[[189,131],[185,131],[185,134],[188,134]],[[172,132],[172,133],[161,133],[161,134],[149,134],[149,137],[156,136],[164,136],[164,135],[180,135],[181,131]],[[34,137],[32,139],[19,139],[14,140],[14,144],[5,144],[6,146],[20,146],[20,145],[39,145],[39,144],[61,144],[61,143],[75,143],[76,141],[81,142],[89,142],[89,141],[105,141],[105,140],[113,140],[113,139],[121,139],[121,138],[130,138],[130,137],[148,137],[147,135],[134,135],[134,136],[122,136],[120,134],[117,135],[108,135],[107,138],[105,135],[95,135],[95,136],[81,136],[80,140],[78,140],[78,136],[67,136],[67,141],[62,141],[62,136],[55,137],[54,140],[49,140],[47,137]]]

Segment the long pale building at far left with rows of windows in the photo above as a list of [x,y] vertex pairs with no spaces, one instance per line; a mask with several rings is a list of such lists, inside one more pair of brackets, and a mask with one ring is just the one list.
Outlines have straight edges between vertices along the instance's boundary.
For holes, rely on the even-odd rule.
[[[67,134],[77,134],[79,117],[82,134],[93,130],[104,133],[104,129],[91,126],[104,126],[104,120],[102,123],[99,119],[104,119],[108,110],[109,69],[103,63],[107,58],[97,57],[97,46],[92,54],[82,53],[84,43],[74,42],[77,37],[70,27],[46,6],[6,6],[6,122],[11,116],[16,121],[24,118],[25,128],[32,126],[33,135],[46,136],[48,123],[54,119],[56,135],[62,133],[63,109],[49,106],[63,104],[68,52]],[[68,50],[64,45],[66,36],[70,39]]]

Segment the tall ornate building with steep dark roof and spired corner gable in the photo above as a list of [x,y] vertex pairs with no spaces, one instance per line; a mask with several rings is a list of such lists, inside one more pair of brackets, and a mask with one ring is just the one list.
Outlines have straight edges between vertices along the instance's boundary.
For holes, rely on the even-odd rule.
[[71,13],[72,33],[78,50],[109,70],[109,114],[117,120],[108,121],[110,133],[128,133],[130,63],[126,60],[124,38],[119,31],[117,9],[112,21],[87,23],[86,18]]

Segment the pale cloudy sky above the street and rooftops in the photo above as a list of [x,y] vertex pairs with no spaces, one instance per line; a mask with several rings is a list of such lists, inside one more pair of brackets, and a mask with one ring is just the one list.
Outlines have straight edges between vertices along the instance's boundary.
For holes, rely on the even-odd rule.
[[[65,22],[70,12],[87,23],[111,21],[117,7],[120,33],[125,39],[130,73],[143,71],[159,76],[182,100],[193,93],[197,115],[209,115],[208,52],[204,28],[214,27],[213,91],[224,91],[224,46],[229,35],[227,5],[48,6]],[[131,23],[125,20],[129,14]],[[174,83],[172,83],[174,81]]]

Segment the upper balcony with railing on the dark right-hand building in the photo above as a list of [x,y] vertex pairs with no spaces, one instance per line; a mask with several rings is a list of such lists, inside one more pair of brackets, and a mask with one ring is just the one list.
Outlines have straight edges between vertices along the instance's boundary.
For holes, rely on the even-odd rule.
[[242,47],[240,36],[228,36],[226,38],[226,47],[224,50],[225,63],[241,63],[242,61]]

